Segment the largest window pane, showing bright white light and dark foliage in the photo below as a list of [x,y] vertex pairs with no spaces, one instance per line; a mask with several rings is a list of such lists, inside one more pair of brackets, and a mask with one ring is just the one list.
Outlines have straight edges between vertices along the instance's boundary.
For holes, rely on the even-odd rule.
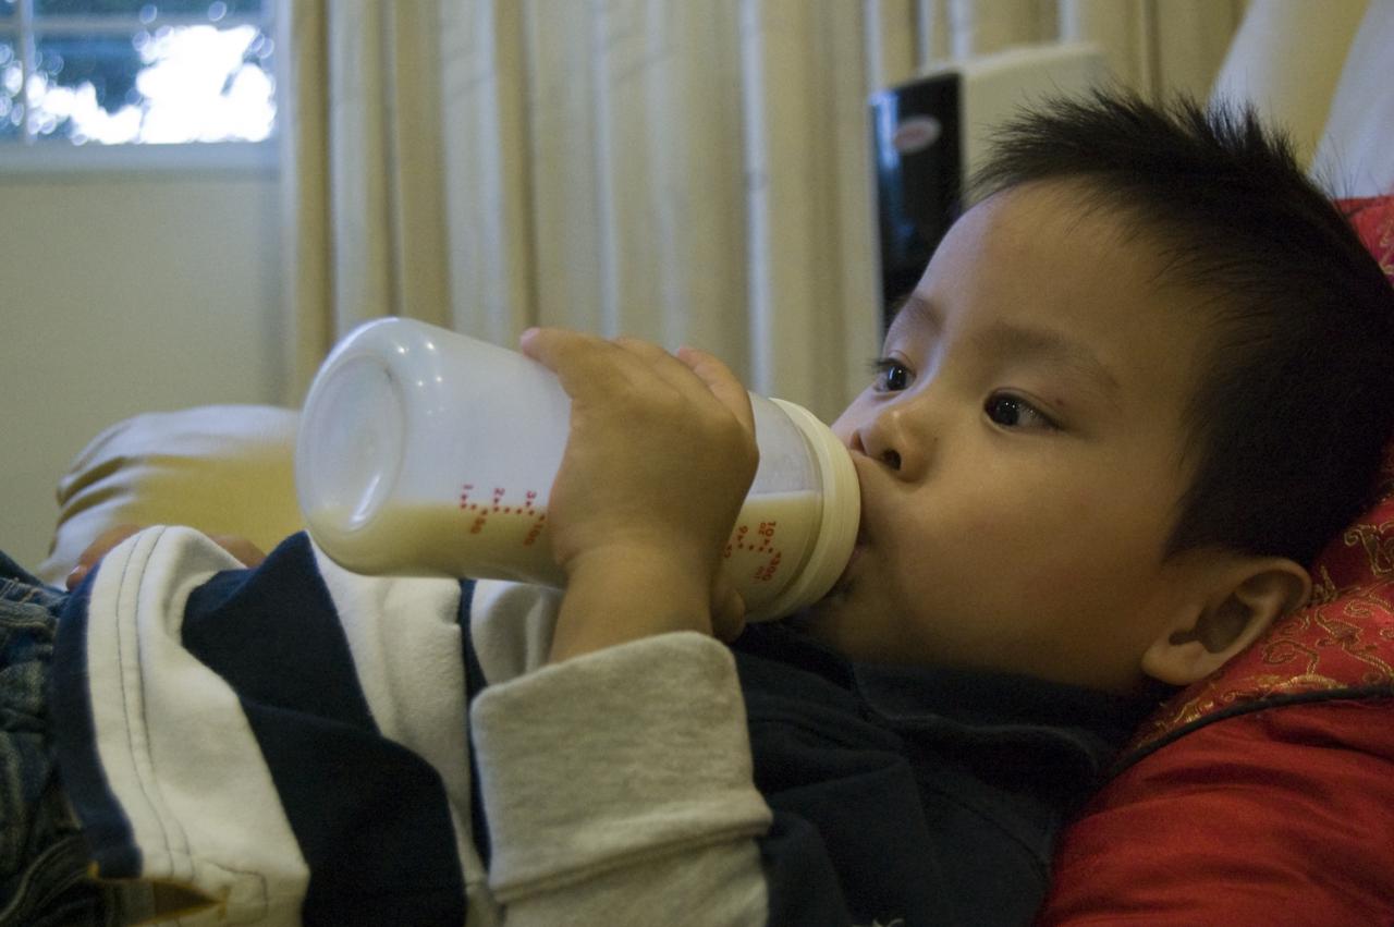
[[261,141],[276,106],[273,43],[250,25],[134,36],[39,35],[31,127],[75,142]]

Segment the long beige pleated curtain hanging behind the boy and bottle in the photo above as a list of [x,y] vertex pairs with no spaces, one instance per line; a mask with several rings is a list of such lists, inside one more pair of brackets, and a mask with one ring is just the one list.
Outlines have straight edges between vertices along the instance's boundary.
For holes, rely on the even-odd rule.
[[1242,0],[282,0],[298,401],[385,314],[715,351],[835,415],[878,347],[867,93],[1089,39],[1204,93]]

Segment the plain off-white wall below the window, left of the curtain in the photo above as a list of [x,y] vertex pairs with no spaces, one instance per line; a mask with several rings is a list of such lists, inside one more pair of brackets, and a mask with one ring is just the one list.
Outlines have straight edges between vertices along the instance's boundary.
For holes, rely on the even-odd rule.
[[0,173],[0,549],[35,567],[72,456],[127,415],[276,403],[276,180]]

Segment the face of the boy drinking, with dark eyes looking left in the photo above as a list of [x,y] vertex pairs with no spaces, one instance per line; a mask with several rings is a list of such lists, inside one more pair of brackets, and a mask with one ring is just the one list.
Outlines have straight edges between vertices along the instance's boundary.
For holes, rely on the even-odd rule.
[[1164,553],[1204,326],[1078,201],[1029,185],[965,215],[834,424],[861,535],[806,622],[855,659],[1125,691],[1193,594]]

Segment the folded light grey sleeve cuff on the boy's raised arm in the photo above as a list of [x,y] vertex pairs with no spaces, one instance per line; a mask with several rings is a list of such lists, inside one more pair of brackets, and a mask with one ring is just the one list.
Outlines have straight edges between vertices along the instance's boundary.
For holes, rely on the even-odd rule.
[[471,710],[507,923],[763,924],[735,661],[665,634],[487,689]]

